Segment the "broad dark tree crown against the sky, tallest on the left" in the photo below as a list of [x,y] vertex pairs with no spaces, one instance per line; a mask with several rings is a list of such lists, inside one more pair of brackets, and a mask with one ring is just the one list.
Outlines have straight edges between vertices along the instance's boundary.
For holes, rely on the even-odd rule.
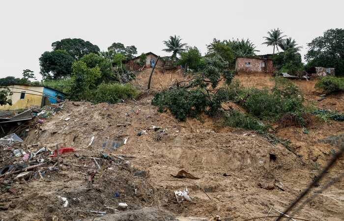
[[53,50],[64,50],[69,55],[74,57],[74,59],[78,60],[82,56],[90,54],[90,53],[98,53],[100,52],[99,47],[93,45],[89,41],[84,41],[80,38],[65,38],[60,41],[56,41],[52,44]]

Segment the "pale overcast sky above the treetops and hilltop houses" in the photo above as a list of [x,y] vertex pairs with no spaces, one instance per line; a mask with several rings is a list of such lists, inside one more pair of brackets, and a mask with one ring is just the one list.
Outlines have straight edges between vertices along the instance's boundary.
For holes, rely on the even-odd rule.
[[106,50],[113,42],[138,54],[161,50],[180,35],[202,54],[213,38],[249,38],[260,50],[271,28],[306,44],[329,28],[344,28],[342,0],[1,0],[0,77],[39,74],[38,58],[63,38],[82,38]]

